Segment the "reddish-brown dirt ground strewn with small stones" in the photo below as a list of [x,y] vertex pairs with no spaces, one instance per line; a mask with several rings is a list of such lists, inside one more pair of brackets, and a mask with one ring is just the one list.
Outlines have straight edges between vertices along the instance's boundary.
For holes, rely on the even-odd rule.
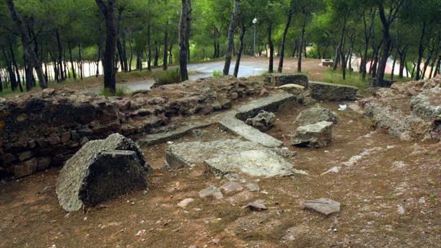
[[[58,169],[0,185],[0,247],[441,247],[441,144],[406,142],[375,131],[353,111],[340,116],[325,148],[289,145],[303,106],[284,106],[270,135],[296,151],[295,167],[309,175],[247,178],[260,192],[244,189],[223,199],[199,199],[198,191],[226,182],[203,164],[160,169],[166,144],[144,147],[154,168],[148,190],[66,214],[58,204]],[[216,125],[173,142],[234,137]],[[352,166],[321,175],[354,155]],[[366,151],[366,150],[365,150]],[[370,152],[370,153],[369,153]],[[194,198],[186,208],[176,204]],[[342,203],[326,217],[302,202],[327,197]],[[268,210],[242,208],[256,199]]]

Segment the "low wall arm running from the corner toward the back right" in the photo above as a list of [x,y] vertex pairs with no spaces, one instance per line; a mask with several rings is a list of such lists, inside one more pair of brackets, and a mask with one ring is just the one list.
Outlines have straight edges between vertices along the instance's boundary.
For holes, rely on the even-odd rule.
[[288,93],[262,97],[240,107],[236,114],[236,118],[245,121],[248,118],[255,117],[261,110],[274,113],[279,109],[280,105],[290,101],[293,102],[294,100],[296,100],[296,97]]

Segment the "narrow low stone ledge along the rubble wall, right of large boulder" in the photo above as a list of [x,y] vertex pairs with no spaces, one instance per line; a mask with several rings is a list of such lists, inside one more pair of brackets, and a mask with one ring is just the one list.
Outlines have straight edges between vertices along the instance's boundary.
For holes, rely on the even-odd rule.
[[213,122],[195,122],[195,123],[189,123],[185,125],[184,127],[180,127],[176,130],[170,131],[170,132],[163,132],[163,133],[155,133],[145,136],[144,138],[138,139],[137,142],[140,145],[156,145],[160,143],[164,143],[173,139],[178,139],[185,134],[189,133],[190,131],[197,129],[197,128],[203,128],[207,127],[211,124],[214,124]]

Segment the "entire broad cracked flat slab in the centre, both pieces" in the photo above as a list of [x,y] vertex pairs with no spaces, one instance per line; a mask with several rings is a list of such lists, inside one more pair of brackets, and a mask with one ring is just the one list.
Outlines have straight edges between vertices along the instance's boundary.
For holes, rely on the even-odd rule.
[[166,160],[172,168],[204,162],[216,175],[246,173],[252,176],[286,176],[297,170],[271,148],[241,139],[170,144]]

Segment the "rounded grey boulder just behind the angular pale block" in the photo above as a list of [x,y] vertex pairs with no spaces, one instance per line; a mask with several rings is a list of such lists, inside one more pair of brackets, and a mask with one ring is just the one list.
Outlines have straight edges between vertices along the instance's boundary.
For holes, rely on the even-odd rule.
[[329,121],[334,125],[338,124],[340,118],[331,110],[323,107],[309,108],[302,111],[296,118],[299,126],[314,124],[321,121]]

